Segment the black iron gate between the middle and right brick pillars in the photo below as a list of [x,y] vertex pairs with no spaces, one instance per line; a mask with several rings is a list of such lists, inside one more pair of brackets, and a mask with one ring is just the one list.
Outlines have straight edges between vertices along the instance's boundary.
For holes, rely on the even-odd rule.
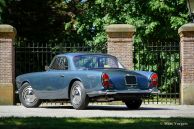
[[179,104],[179,42],[145,41],[134,44],[134,69],[156,72],[160,93],[144,103]]

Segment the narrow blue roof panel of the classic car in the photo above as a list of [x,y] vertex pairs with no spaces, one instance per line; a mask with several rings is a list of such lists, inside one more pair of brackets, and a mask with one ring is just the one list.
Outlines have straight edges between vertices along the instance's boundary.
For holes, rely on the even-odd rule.
[[112,55],[104,54],[104,53],[64,53],[64,54],[59,54],[57,56],[74,57],[74,56],[82,56],[82,55],[104,55],[104,56],[112,56]]

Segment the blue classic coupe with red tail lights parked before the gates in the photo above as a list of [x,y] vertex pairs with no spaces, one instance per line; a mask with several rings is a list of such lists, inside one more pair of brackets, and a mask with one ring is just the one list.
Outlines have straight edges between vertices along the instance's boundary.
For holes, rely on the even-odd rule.
[[138,109],[142,98],[157,92],[158,76],[127,70],[108,54],[66,53],[55,56],[44,72],[18,76],[16,85],[28,108],[42,100],[70,100],[75,109],[85,109],[89,101],[121,100]]

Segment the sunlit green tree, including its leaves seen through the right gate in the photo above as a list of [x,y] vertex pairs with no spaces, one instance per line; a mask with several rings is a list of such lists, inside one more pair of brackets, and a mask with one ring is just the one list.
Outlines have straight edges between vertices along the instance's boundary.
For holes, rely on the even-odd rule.
[[[87,0],[79,4],[84,11],[76,17],[75,28],[85,42],[95,46],[96,51],[103,51],[102,48],[106,51],[105,26],[118,23],[136,26],[135,69],[159,73],[161,90],[173,92],[171,87],[178,82],[178,51],[156,53],[148,45],[172,41],[178,44],[178,28],[188,22],[185,0]],[[158,59],[162,60],[160,64]]]

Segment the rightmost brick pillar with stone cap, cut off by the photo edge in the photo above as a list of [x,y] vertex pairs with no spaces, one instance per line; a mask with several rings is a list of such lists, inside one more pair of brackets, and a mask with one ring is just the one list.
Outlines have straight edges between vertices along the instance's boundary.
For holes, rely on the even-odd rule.
[[181,55],[181,104],[194,104],[194,23],[179,28]]

